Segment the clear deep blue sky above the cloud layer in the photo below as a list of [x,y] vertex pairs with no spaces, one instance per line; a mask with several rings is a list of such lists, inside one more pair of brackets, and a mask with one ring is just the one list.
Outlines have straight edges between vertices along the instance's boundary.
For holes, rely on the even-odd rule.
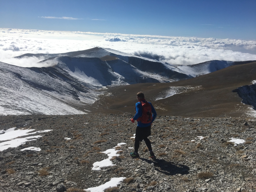
[[255,40],[255,8],[255,0],[0,0],[0,28]]

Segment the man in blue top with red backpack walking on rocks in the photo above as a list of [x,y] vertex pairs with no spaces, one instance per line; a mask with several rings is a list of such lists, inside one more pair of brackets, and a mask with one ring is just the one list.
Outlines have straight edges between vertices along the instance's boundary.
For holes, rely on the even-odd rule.
[[[152,151],[151,142],[147,137],[151,135],[151,125],[156,118],[156,110],[150,102],[146,101],[144,93],[138,92],[137,100],[138,102],[135,105],[136,114],[131,119],[132,123],[134,123],[135,120],[137,121],[134,152],[130,153],[130,155],[132,158],[140,157],[138,154],[138,148],[140,146],[140,142],[144,140],[150,152],[150,158],[155,160],[156,157]],[[148,112],[145,110],[146,107]]]

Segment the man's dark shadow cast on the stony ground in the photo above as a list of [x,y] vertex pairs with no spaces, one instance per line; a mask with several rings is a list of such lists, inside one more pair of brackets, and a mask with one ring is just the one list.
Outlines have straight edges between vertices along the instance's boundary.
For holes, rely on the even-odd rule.
[[186,165],[176,164],[174,162],[168,162],[168,161],[165,161],[164,159],[156,159],[155,161],[152,161],[150,159],[145,159],[145,158],[140,158],[140,159],[150,164],[154,163],[155,170],[165,175],[189,174],[189,167]]

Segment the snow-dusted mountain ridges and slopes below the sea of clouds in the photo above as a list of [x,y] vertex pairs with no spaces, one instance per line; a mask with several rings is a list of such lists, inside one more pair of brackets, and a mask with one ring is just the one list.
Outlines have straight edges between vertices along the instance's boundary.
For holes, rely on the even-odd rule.
[[155,58],[95,47],[62,54],[25,54],[52,67],[18,67],[0,62],[0,115],[82,114],[105,86],[173,82],[207,74],[232,61],[172,65]]

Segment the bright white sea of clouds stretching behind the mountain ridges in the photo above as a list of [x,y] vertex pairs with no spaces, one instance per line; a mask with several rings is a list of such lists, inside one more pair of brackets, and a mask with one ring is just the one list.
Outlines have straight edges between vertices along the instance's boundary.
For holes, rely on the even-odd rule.
[[64,53],[97,46],[156,57],[176,65],[209,60],[256,60],[256,41],[253,40],[0,28],[0,61],[22,67],[41,67],[42,64],[37,62],[42,58],[13,57],[26,53]]

